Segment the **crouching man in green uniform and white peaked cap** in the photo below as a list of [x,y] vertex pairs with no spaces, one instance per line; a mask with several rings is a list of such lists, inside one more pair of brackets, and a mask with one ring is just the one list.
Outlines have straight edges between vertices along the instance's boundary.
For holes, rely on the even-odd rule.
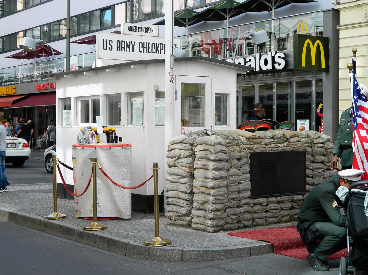
[[[345,216],[340,212],[342,202],[336,190],[360,181],[363,174],[363,170],[357,169],[340,171],[313,188],[300,208],[297,230],[307,245],[307,260],[316,271],[328,271],[328,256],[347,246]],[[311,231],[313,234],[308,235]],[[308,238],[311,235],[315,238]],[[316,242],[317,238],[322,241]]]

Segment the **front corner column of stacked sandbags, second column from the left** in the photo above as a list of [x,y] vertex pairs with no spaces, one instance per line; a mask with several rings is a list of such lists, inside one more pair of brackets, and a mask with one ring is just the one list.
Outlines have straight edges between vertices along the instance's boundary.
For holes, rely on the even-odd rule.
[[195,142],[192,228],[216,232],[226,219],[230,153],[226,141],[216,135]]

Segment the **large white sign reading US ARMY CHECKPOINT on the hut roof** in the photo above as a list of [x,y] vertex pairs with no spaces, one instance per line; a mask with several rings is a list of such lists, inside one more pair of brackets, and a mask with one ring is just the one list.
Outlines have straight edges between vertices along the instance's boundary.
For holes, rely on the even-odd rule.
[[163,37],[97,33],[96,58],[118,60],[146,60],[165,58]]

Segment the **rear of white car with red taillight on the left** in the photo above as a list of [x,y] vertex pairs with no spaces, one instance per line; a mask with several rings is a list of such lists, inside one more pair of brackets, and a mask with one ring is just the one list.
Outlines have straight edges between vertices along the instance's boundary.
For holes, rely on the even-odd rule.
[[5,162],[11,162],[15,167],[21,167],[31,156],[31,148],[23,138],[6,137]]

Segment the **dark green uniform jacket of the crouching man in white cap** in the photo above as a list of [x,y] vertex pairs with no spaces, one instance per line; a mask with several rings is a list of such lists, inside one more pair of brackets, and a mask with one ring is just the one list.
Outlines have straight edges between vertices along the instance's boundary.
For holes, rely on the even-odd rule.
[[339,175],[332,176],[309,192],[298,214],[298,231],[299,223],[305,221],[332,222],[340,227],[345,225],[345,216],[340,213],[342,202],[335,194],[340,187],[339,180]]

